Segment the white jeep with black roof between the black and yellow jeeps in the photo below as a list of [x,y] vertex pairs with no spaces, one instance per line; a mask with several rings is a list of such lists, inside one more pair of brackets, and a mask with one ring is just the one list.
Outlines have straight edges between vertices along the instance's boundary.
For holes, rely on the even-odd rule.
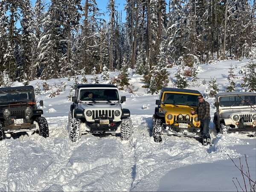
[[130,111],[121,103],[126,97],[119,96],[112,84],[78,84],[69,113],[69,134],[72,142],[82,134],[121,134],[122,140],[131,137]]

